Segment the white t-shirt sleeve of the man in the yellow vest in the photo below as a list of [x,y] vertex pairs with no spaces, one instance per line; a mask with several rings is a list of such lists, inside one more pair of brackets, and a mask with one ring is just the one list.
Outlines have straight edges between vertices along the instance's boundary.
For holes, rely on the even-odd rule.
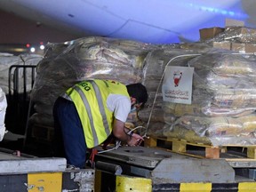
[[130,111],[131,100],[124,95],[109,94],[107,98],[107,107],[110,111],[114,111],[116,119],[125,123]]

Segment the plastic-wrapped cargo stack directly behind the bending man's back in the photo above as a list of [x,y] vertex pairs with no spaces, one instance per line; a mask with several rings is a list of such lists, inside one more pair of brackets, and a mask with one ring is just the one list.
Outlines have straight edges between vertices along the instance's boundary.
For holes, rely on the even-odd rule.
[[153,45],[133,41],[84,37],[67,44],[47,44],[38,64],[29,124],[52,126],[54,101],[76,82],[100,78],[124,84],[141,82],[142,61]]

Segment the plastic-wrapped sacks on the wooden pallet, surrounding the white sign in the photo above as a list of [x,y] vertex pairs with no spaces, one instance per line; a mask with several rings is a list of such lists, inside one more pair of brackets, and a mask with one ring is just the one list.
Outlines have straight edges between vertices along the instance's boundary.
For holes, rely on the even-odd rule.
[[[161,61],[160,58],[158,60]],[[158,95],[162,93],[158,92],[156,107],[152,111],[144,109],[139,113],[140,117],[148,110],[154,116],[148,125],[148,135],[214,146],[255,145],[256,62],[243,55],[218,52],[216,49],[187,61],[180,65],[173,60],[172,65],[195,68],[192,104],[162,101],[161,113]],[[156,119],[156,116],[159,118]],[[147,120],[145,114],[143,118]]]

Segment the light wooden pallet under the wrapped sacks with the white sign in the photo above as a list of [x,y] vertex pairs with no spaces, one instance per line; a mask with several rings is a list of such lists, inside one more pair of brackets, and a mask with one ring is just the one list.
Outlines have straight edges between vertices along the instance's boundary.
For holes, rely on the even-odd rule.
[[[244,153],[244,158],[251,158],[256,160],[256,145],[255,146],[239,146],[239,145],[227,145],[221,147],[214,147],[211,145],[205,145],[202,143],[191,143],[187,140],[177,140],[177,139],[163,139],[163,138],[148,138],[144,141],[145,147],[159,147],[157,145],[158,141],[164,141],[165,143],[171,144],[171,148],[167,148],[175,153],[180,153],[183,155],[188,156],[196,156],[201,158],[211,158],[211,159],[218,159],[223,154],[228,154],[229,148],[241,148],[244,151],[246,149],[247,153]],[[204,149],[204,155],[195,155],[193,153],[188,152],[188,147],[200,148]],[[228,155],[232,156],[233,158],[240,158],[243,156],[238,155]]]

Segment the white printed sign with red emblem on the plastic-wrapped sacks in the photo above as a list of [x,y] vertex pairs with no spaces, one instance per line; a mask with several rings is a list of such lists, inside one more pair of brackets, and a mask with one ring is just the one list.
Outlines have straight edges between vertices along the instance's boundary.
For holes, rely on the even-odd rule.
[[163,100],[191,104],[194,68],[168,66],[162,86]]

